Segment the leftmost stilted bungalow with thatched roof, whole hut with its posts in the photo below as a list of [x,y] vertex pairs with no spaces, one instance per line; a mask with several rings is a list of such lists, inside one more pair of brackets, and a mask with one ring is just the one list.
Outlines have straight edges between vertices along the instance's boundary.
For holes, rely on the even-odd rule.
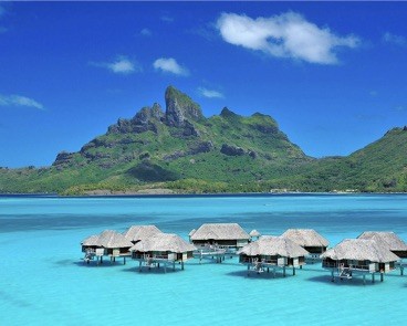
[[123,257],[126,263],[126,256],[129,256],[128,249],[133,243],[123,234],[105,230],[98,235],[92,235],[82,241],[82,251],[85,250],[84,260],[88,263],[90,260],[96,257],[97,263],[103,263],[103,256],[109,256],[111,262],[115,262],[116,257]]

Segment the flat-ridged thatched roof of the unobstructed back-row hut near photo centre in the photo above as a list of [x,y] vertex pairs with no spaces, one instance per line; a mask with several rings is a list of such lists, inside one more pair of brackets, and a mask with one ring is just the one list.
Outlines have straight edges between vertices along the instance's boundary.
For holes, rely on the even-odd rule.
[[249,240],[250,235],[238,223],[202,224],[191,240]]

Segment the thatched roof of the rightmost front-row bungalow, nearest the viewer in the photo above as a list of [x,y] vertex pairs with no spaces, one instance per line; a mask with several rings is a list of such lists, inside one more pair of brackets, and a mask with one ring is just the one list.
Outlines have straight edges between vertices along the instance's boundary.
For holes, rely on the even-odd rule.
[[375,263],[388,263],[398,261],[392,251],[378,245],[374,240],[345,239],[333,249],[321,255],[322,259],[371,261]]

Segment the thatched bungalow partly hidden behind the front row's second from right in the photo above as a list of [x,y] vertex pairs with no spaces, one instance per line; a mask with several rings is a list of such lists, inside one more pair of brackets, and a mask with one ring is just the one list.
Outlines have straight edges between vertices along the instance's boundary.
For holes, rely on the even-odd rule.
[[330,245],[330,241],[313,229],[289,229],[281,236],[290,239],[305,249],[309,252],[305,259],[312,262],[320,260],[320,255]]

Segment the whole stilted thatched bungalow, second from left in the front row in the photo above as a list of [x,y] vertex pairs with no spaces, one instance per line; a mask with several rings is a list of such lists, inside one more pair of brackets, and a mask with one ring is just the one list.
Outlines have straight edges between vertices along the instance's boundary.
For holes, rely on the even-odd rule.
[[173,265],[175,270],[176,263],[181,265],[192,259],[192,252],[196,250],[194,244],[186,242],[177,234],[157,233],[148,239],[144,239],[133,245],[129,251],[132,259],[139,262],[139,271],[142,266],[159,267],[164,265],[164,272],[167,271],[167,265]]

